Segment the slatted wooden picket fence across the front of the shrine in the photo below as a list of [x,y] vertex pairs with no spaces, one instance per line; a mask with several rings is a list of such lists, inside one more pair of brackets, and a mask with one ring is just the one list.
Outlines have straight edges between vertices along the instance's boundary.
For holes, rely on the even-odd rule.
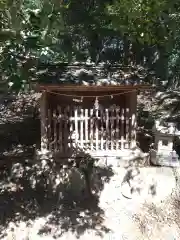
[[48,110],[49,149],[66,153],[80,147],[91,152],[109,152],[133,147],[135,116],[129,108],[57,106]]

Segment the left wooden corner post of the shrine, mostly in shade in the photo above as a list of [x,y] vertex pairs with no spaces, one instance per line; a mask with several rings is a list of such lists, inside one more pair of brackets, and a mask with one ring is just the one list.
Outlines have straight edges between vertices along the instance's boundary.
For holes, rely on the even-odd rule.
[[43,92],[40,100],[41,115],[41,151],[48,150],[48,107],[47,92]]

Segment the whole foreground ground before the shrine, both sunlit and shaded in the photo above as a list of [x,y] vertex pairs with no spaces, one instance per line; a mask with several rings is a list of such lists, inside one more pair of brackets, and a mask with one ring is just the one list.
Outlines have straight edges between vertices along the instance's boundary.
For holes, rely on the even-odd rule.
[[[180,208],[171,196],[175,187],[172,169],[95,167],[95,194],[89,198],[84,191],[84,180],[77,180],[75,169],[64,172],[60,166],[51,165],[51,172],[46,167],[47,172],[40,173],[42,166],[34,168],[32,159],[28,162],[26,158],[24,163],[21,159],[21,163],[10,166],[9,182],[3,182],[2,178],[1,239],[73,240],[93,237],[97,240],[160,240],[169,239],[167,237],[173,234],[179,239],[177,219],[180,210],[177,209]],[[76,172],[77,188],[77,182],[72,178],[73,171]],[[66,177],[62,178],[61,175],[60,178],[60,174]],[[52,178],[55,175],[58,175],[59,181]],[[47,176],[52,181],[48,185],[42,181]],[[151,188],[152,176],[156,182],[154,188]],[[137,180],[142,180],[141,187],[144,188],[138,194],[136,190],[131,191],[131,188],[136,189]],[[166,188],[162,189],[165,180]],[[127,181],[130,182],[130,198],[123,196],[121,186]],[[58,183],[57,187],[55,182]]]

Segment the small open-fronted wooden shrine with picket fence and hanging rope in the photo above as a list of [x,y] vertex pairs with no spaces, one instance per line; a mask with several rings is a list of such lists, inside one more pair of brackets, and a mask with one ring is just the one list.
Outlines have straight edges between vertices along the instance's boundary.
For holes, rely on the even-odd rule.
[[41,149],[80,148],[114,156],[136,146],[137,92],[143,85],[39,85]]

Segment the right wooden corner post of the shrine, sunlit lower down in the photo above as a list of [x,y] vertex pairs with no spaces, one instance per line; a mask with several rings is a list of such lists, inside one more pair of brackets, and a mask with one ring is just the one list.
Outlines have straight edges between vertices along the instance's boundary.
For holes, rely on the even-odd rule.
[[130,93],[130,128],[129,128],[129,134],[130,134],[130,148],[136,147],[136,127],[137,127],[137,120],[136,120],[136,112],[137,112],[137,91],[133,91]]

